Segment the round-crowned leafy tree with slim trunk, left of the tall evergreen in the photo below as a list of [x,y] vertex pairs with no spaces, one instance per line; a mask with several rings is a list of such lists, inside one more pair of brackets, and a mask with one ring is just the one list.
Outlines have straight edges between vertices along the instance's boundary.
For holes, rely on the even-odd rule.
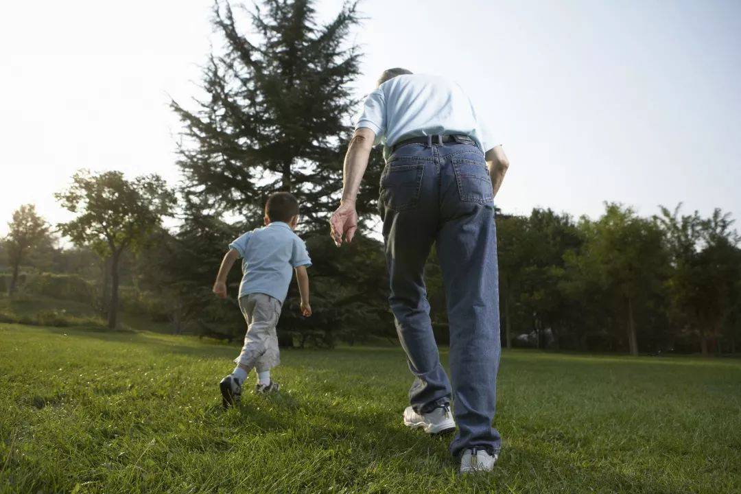
[[81,170],[67,190],[56,193],[62,207],[77,217],[59,224],[59,231],[77,245],[89,245],[102,258],[110,258],[108,327],[116,327],[119,307],[119,261],[126,249],[137,250],[170,213],[174,194],[157,175],[132,181],[123,173],[91,174]]

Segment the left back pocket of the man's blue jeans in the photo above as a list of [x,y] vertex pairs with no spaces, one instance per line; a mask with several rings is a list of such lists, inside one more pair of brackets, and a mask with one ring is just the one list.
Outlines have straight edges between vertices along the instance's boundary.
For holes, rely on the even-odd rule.
[[419,202],[425,164],[420,161],[398,160],[387,164],[381,174],[382,207],[393,211],[411,210]]

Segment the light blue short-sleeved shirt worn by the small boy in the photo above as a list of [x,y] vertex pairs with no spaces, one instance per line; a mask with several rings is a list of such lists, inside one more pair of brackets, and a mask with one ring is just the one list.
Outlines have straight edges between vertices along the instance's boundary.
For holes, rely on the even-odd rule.
[[245,233],[229,244],[229,248],[242,258],[240,297],[265,293],[282,303],[288,294],[293,268],[311,265],[306,244],[282,221]]

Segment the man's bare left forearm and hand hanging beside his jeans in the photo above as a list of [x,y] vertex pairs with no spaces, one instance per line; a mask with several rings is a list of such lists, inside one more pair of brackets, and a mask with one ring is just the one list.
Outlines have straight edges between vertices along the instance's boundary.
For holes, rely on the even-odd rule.
[[355,210],[355,200],[360,190],[365,168],[368,167],[368,158],[371,156],[373,141],[376,133],[366,127],[355,131],[345,155],[345,166],[342,176],[342,200],[337,210],[332,213],[329,220],[331,235],[334,243],[339,247],[342,240],[348,242],[353,240],[355,231],[358,229],[358,213]]

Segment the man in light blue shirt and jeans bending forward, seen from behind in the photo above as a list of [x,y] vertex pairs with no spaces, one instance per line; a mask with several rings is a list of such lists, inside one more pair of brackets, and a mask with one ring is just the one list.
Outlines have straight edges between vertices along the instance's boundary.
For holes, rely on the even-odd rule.
[[[371,147],[379,143],[386,158],[379,211],[389,302],[415,376],[404,423],[426,433],[457,423],[451,453],[460,455],[461,472],[492,470],[501,447],[491,427],[501,351],[494,196],[508,160],[457,84],[386,70],[365,100],[345,156],[342,201],[330,218],[338,247],[356,232],[356,196]],[[423,277],[433,244],[448,304],[452,393]]]

